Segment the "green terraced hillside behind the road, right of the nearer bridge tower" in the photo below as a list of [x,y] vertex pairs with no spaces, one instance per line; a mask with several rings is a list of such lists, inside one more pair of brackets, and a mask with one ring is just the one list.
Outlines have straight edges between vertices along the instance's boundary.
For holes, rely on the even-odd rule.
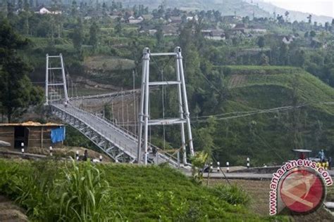
[[313,155],[324,149],[334,155],[334,107],[326,103],[333,101],[333,88],[291,67],[223,70],[229,94],[221,115],[215,116],[216,159],[245,164],[250,157],[253,165],[261,166],[293,158],[294,148],[314,150]]

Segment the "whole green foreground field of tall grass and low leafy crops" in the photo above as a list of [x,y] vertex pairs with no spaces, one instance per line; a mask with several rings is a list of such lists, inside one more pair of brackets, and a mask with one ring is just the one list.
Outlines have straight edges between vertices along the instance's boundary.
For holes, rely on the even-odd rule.
[[242,190],[196,185],[163,166],[0,160],[0,192],[33,221],[272,219],[247,211]]

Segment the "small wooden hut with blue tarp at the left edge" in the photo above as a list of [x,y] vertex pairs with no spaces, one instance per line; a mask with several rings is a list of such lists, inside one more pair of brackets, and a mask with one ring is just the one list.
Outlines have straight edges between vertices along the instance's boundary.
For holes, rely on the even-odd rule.
[[21,124],[0,124],[0,141],[11,143],[10,148],[57,148],[63,145],[66,131],[62,124],[40,124],[25,122]]

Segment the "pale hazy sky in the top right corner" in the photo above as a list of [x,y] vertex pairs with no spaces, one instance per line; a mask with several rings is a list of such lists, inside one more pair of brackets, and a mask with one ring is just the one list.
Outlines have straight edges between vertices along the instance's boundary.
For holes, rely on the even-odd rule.
[[264,0],[280,8],[334,18],[334,0]]

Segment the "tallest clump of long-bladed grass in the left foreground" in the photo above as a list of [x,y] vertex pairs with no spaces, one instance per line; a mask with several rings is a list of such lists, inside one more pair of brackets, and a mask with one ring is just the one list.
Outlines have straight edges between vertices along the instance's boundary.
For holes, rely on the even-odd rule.
[[59,216],[63,221],[109,221],[109,183],[90,162],[66,166],[64,179],[56,183],[61,193]]

